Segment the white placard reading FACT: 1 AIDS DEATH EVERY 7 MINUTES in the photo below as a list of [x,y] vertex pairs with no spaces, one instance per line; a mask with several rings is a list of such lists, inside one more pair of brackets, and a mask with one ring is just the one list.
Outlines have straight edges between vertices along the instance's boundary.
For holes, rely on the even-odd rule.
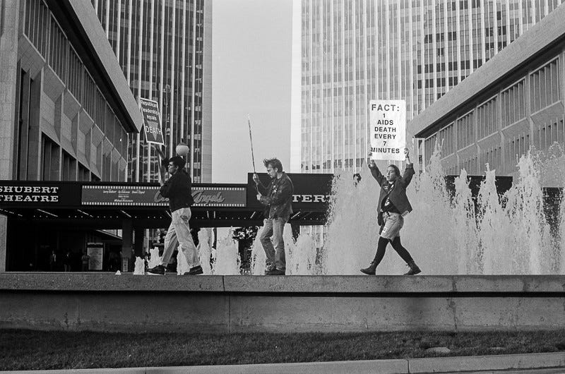
[[372,159],[403,160],[406,147],[405,100],[369,102]]

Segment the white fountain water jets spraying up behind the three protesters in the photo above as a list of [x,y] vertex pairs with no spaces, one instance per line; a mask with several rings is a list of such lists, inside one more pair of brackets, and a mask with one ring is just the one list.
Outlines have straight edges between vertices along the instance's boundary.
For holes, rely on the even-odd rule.
[[[496,170],[486,164],[475,200],[465,170],[455,179],[453,194],[448,193],[436,147],[427,172],[417,173],[408,186],[413,211],[401,231],[403,246],[423,274],[565,274],[565,204],[559,207],[557,227],[552,228],[544,214],[542,186],[551,185],[548,180],[565,182],[563,152],[551,151],[549,156],[523,155],[513,186],[502,196],[496,191]],[[287,275],[360,275],[359,269],[374,258],[380,187],[367,167],[362,168],[359,183],[353,183],[350,174],[335,173],[323,248],[316,248],[306,234],[294,241],[290,224],[285,226]],[[263,275],[266,268],[262,230],[251,249],[251,275]],[[239,275],[239,253],[231,231],[218,241],[217,250],[210,249],[206,232],[199,234],[198,246],[204,273]],[[208,268],[202,259],[210,255],[213,266]],[[150,267],[154,259],[158,261],[158,253],[152,250]],[[399,275],[405,270],[403,260],[388,246],[377,274]]]

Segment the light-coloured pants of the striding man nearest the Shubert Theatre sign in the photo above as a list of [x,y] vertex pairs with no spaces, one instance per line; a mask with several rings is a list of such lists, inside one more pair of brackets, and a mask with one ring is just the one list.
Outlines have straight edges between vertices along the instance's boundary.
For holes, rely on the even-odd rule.
[[178,245],[179,251],[184,253],[189,267],[200,265],[198,251],[196,251],[196,246],[190,234],[189,219],[192,215],[190,208],[182,207],[172,212],[171,215],[171,224],[167,230],[167,235],[165,235],[165,251],[163,251],[161,264],[167,266],[174,249]]

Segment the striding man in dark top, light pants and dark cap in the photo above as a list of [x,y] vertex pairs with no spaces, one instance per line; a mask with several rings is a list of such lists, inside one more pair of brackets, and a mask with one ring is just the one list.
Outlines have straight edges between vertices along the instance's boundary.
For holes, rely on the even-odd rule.
[[[165,158],[165,160],[167,159]],[[169,198],[171,224],[167,230],[167,235],[165,235],[165,251],[163,251],[161,263],[149,269],[148,273],[150,274],[165,275],[167,264],[171,259],[174,248],[177,247],[177,243],[190,267],[190,271],[185,272],[184,275],[203,274],[198,259],[198,251],[196,251],[196,246],[190,234],[190,207],[194,204],[194,200],[191,192],[191,179],[189,174],[184,171],[184,164],[184,159],[180,156],[168,159],[167,167],[171,176],[168,181],[159,182],[161,185],[159,191],[162,197]]]

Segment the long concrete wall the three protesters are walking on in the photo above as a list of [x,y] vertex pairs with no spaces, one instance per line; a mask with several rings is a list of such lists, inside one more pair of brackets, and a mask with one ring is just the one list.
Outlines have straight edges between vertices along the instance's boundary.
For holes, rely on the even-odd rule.
[[0,273],[0,327],[362,332],[565,328],[565,276]]

